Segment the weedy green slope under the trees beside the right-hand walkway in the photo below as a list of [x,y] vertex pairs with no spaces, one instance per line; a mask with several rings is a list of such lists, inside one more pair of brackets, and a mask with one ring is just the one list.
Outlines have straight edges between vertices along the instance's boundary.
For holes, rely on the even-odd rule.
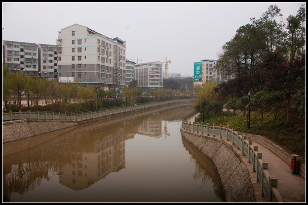
[[[198,116],[196,122],[202,123],[202,116]],[[305,125],[298,123],[298,121],[286,120],[285,112],[280,112],[277,116],[276,129],[275,117],[273,114],[268,113],[263,115],[263,123],[260,114],[251,113],[250,129],[248,129],[247,116],[236,114],[233,120],[233,114],[229,112],[216,118],[215,116],[204,118],[204,124],[206,123],[210,123],[210,125],[215,123],[216,126],[222,124],[224,127],[229,125],[231,128],[236,128],[236,130],[241,130],[242,132],[265,136],[291,154],[296,153],[305,158]]]

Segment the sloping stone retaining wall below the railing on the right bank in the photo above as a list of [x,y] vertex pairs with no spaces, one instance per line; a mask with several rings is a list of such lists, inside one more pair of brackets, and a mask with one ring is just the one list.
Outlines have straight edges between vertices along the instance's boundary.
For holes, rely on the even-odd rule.
[[182,136],[215,165],[227,202],[257,202],[250,173],[223,139],[199,136],[181,129]]

